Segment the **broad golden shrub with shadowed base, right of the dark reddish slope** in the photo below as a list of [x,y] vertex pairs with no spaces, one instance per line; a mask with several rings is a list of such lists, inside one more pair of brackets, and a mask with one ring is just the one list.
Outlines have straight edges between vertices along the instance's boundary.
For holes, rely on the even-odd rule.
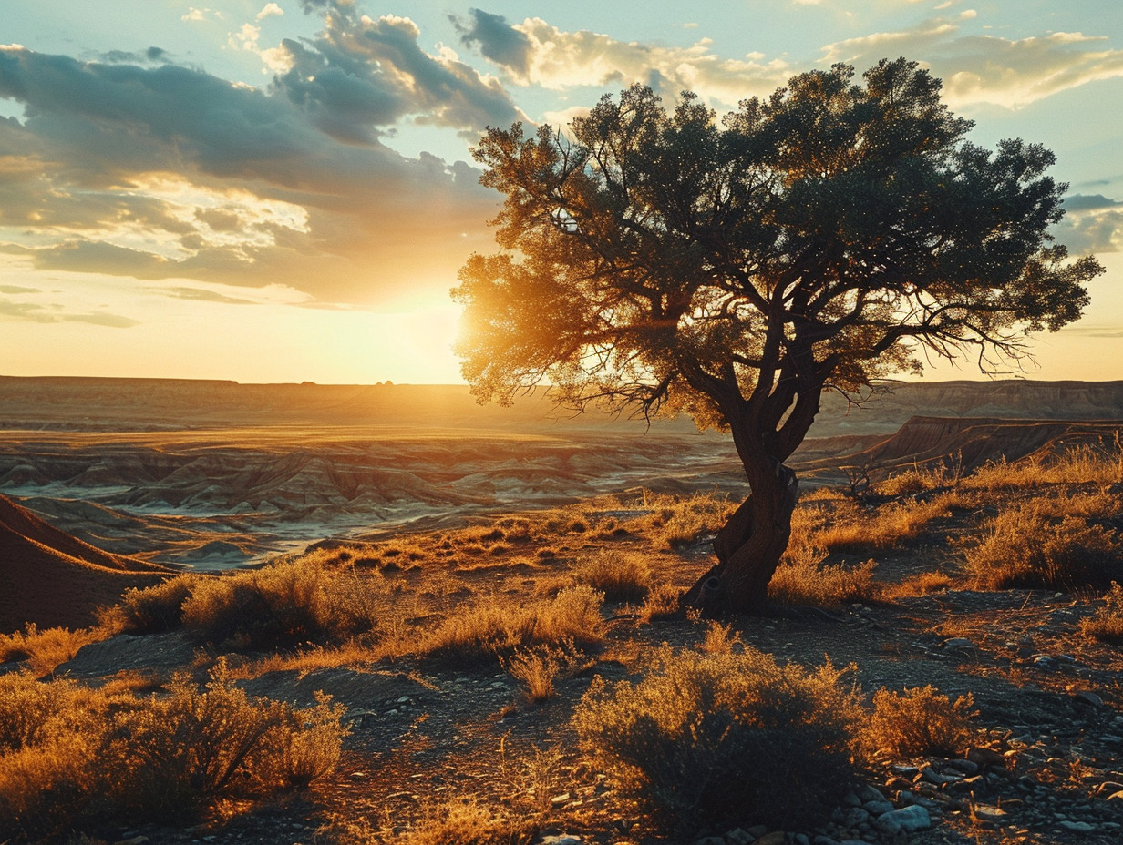
[[183,603],[183,625],[206,642],[256,649],[372,631],[373,608],[363,603],[362,590],[336,589],[341,578],[304,558],[199,580]]

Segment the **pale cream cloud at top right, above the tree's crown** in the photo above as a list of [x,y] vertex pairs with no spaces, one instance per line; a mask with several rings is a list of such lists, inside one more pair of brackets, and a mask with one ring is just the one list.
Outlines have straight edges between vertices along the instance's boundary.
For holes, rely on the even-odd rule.
[[1123,76],[1123,50],[1111,49],[1103,37],[1081,33],[1021,39],[962,35],[957,22],[942,18],[909,30],[828,45],[823,61],[865,67],[883,56],[897,55],[930,66],[943,80],[947,100],[957,108],[993,103],[1016,109],[1089,82]]

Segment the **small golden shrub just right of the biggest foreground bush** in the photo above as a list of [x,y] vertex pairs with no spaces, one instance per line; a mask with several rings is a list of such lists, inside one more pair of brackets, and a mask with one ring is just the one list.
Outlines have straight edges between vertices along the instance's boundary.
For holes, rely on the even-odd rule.
[[976,733],[970,722],[977,715],[971,710],[974,704],[969,692],[952,704],[931,686],[905,689],[901,695],[879,689],[874,694],[865,742],[894,757],[962,754]]

